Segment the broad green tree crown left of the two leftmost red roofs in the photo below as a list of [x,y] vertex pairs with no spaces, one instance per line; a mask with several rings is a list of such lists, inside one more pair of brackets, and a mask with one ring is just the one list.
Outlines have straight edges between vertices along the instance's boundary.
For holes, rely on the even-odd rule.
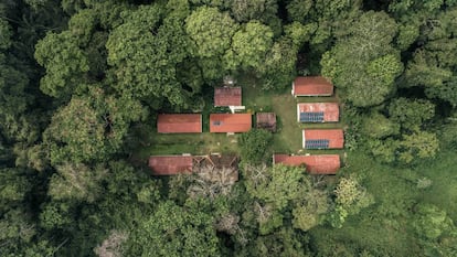
[[85,97],[73,97],[44,131],[51,162],[107,160],[121,147],[130,122],[145,114],[138,101],[106,95],[97,87]]

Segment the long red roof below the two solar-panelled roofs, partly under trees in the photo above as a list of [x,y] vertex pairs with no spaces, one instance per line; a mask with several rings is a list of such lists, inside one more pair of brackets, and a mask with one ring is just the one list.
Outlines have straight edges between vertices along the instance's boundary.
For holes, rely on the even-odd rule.
[[305,165],[306,171],[311,174],[336,174],[340,169],[340,156],[319,154],[319,156],[289,156],[273,154],[273,163],[300,167]]

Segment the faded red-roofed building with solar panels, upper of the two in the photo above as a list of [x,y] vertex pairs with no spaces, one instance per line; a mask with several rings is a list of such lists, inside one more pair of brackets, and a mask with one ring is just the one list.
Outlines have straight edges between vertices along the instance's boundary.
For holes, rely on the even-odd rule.
[[297,104],[298,122],[338,122],[340,108],[337,103]]

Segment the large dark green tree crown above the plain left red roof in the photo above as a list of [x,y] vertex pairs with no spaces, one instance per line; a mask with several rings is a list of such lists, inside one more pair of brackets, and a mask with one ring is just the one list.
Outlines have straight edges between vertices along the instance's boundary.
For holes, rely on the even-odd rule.
[[114,87],[156,107],[162,97],[188,107],[188,93],[177,77],[177,65],[188,57],[183,20],[163,19],[162,10],[151,4],[127,11],[125,22],[110,33],[106,47],[116,75]]

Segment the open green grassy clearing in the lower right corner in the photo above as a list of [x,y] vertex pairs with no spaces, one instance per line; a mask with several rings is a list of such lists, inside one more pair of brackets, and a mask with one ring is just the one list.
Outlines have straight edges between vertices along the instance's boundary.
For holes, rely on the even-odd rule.
[[[437,158],[414,169],[384,165],[362,151],[352,151],[340,175],[344,173],[361,178],[375,203],[350,216],[341,228],[318,226],[310,231],[311,240],[326,256],[351,256],[348,253],[352,253],[352,245],[360,247],[359,253],[369,249],[376,256],[422,256],[412,227],[415,204],[432,203],[450,218],[457,217],[457,165],[453,150],[442,149]],[[432,180],[429,188],[417,186],[423,178]]]

